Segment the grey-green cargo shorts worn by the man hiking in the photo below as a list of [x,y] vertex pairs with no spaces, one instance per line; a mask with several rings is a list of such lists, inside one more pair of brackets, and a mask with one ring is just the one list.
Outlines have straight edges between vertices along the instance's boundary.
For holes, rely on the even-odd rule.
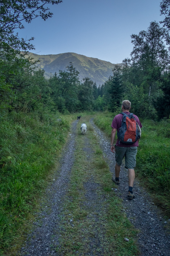
[[116,163],[121,166],[123,157],[125,156],[125,168],[134,169],[136,167],[137,147],[118,147],[115,146]]

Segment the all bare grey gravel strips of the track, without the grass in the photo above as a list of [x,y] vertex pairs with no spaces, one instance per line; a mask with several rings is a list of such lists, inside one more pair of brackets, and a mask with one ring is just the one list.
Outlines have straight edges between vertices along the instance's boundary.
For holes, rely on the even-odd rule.
[[[71,168],[74,164],[77,122],[77,120],[73,122],[70,138],[65,148],[63,148],[60,161],[60,175],[58,177],[56,174],[56,177],[54,177],[55,180],[46,189],[45,199],[42,199],[40,204],[42,211],[36,214],[36,220],[33,222],[34,226],[17,255],[61,256],[55,251],[55,248],[59,245],[59,237],[63,233],[61,222],[64,214],[62,211],[64,201],[62,199],[67,192]],[[105,153],[105,158],[110,170],[114,173],[115,157],[110,152],[110,140],[106,137],[104,132],[97,128],[93,119],[91,119],[90,122],[95,129],[94,133],[98,138],[101,149]],[[84,139],[85,147],[83,150],[85,153],[88,153],[87,159],[90,163],[90,144],[86,137],[84,137]],[[102,247],[101,245],[107,242],[104,238],[104,223],[101,222],[100,217],[102,211],[104,211],[101,205],[106,199],[103,196],[98,196],[96,193],[100,185],[94,182],[91,173],[89,173],[88,181],[84,182],[83,185],[85,189],[85,201],[82,202],[82,207],[85,207],[91,212],[91,214],[87,216],[87,221],[90,223],[91,232],[94,234],[94,236],[88,238],[90,239],[90,253],[88,255],[93,255],[92,251],[97,247]],[[133,225],[140,229],[138,243],[141,256],[170,256],[170,236],[164,228],[166,223],[163,216],[161,216],[161,212],[153,204],[152,199],[140,186],[137,179],[134,183],[135,199],[127,200],[128,173],[123,167],[121,167],[120,172],[120,185],[114,190],[116,194],[123,199],[123,211],[126,212],[127,217]],[[103,255],[103,251],[101,250],[95,255]]]

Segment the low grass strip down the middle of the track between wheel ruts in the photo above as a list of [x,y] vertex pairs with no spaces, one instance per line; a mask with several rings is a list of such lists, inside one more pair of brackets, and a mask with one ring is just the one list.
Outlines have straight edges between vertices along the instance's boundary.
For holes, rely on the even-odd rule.
[[[89,127],[89,118],[82,121]],[[88,144],[85,144],[86,143]],[[91,153],[83,150],[91,148]],[[94,152],[94,153],[92,153]],[[138,255],[135,242],[137,230],[127,219],[122,210],[122,200],[113,191],[111,172],[101,153],[94,132],[87,129],[83,136],[80,132],[80,123],[77,125],[77,139],[74,153],[74,166],[72,167],[70,185],[65,195],[64,215],[61,220],[60,246],[56,248],[63,256],[86,255],[93,250],[94,255],[133,256]],[[97,153],[97,154],[96,154]],[[99,154],[98,154],[99,153]],[[87,155],[91,156],[90,160]],[[99,168],[100,167],[100,168]],[[95,205],[87,207],[85,184],[91,179],[96,184],[94,193],[103,198],[99,209]],[[99,222],[96,221],[96,218]],[[73,222],[70,222],[70,219]],[[74,224],[74,226],[72,226]],[[97,235],[99,246],[93,247],[93,238]],[[124,237],[130,239],[127,243]],[[120,246],[121,245],[121,246]],[[78,254],[75,254],[78,251]]]

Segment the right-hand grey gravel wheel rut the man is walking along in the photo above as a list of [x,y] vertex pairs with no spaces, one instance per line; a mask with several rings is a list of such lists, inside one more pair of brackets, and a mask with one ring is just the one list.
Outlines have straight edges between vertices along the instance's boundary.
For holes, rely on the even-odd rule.
[[[110,139],[90,120],[95,129],[100,147],[106,154],[110,171],[114,174],[115,156],[110,151]],[[123,199],[124,211],[133,225],[140,229],[138,243],[142,256],[170,256],[170,235],[164,228],[166,221],[161,211],[154,205],[151,197],[140,186],[137,179],[134,182],[135,199],[127,200],[128,171],[121,166],[120,184],[115,189],[119,197]]]

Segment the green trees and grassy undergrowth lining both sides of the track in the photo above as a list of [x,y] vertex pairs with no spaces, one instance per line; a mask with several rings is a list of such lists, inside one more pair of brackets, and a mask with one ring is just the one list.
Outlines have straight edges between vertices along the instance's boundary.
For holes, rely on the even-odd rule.
[[[15,29],[24,28],[23,19],[29,23],[52,14],[41,1],[22,2],[0,3],[1,252],[32,211],[31,202],[43,188],[73,119],[80,114],[96,115],[96,124],[109,135],[111,121],[127,99],[131,113],[144,124],[137,172],[141,179],[148,179],[159,205],[170,214],[170,1],[161,2],[163,21],[152,21],[146,31],[131,35],[130,58],[122,61],[122,67],[115,65],[113,75],[102,85],[89,77],[80,81],[73,63],[66,71],[45,78],[44,70],[26,58],[34,49],[33,38],[25,41]],[[62,1],[43,2],[58,5]],[[159,148],[155,148],[157,140]],[[164,152],[161,159],[159,150]],[[158,190],[161,195],[156,195]]]

